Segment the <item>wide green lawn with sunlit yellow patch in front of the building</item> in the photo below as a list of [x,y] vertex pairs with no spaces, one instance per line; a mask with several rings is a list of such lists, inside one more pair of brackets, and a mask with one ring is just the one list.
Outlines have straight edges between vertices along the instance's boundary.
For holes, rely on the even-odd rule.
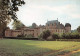
[[[0,39],[1,56],[57,56],[80,49],[80,42]],[[70,56],[79,56],[80,52]]]

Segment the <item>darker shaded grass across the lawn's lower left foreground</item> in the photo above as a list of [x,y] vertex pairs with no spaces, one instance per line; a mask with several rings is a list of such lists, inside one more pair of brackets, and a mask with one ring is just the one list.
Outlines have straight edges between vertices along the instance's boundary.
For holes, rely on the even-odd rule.
[[0,56],[43,56],[44,53],[51,51],[53,50],[34,45],[0,46]]

